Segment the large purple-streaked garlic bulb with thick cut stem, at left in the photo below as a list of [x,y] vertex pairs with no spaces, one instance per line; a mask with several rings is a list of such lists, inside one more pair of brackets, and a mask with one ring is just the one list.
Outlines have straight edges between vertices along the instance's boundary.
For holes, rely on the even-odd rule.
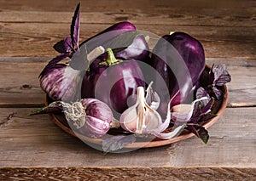
[[[88,64],[100,54],[104,52],[104,48],[97,47],[87,54],[87,59],[84,61],[83,56],[78,53],[69,58],[69,54],[61,54],[50,60],[48,65],[39,75],[40,86],[45,93],[53,100],[61,100],[64,102],[76,101],[81,98],[81,93],[78,91],[83,80],[83,67],[88,67]],[[77,58],[77,59],[75,59]],[[69,64],[63,64],[61,61],[67,60]]]

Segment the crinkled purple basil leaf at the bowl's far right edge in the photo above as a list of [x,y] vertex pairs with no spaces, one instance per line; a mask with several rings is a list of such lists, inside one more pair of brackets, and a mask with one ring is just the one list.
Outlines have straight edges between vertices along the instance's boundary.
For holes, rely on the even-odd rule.
[[213,65],[212,72],[214,73],[213,85],[223,86],[231,81],[231,76],[227,71],[226,65]]

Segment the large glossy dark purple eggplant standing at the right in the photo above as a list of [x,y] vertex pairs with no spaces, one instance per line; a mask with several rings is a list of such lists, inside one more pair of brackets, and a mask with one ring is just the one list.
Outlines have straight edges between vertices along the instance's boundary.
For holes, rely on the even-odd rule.
[[[154,89],[160,94],[160,112],[163,113],[170,100],[173,106],[193,99],[193,90],[205,68],[204,49],[194,37],[174,32],[160,38],[149,64],[160,74],[154,74],[153,80]],[[160,79],[165,84],[160,83]]]

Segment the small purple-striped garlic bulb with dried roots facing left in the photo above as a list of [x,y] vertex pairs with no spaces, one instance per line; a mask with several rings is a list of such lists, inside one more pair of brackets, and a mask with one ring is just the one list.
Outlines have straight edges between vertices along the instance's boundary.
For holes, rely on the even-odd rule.
[[100,138],[108,133],[113,122],[112,110],[97,99],[82,99],[72,105],[64,103],[63,110],[67,122],[90,138]]

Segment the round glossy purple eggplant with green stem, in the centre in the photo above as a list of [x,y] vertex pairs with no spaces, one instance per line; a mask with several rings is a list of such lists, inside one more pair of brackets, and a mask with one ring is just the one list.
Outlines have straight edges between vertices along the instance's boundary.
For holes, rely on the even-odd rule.
[[[122,113],[135,103],[137,87],[145,88],[143,72],[137,60],[120,60],[108,48],[108,58],[100,56],[90,65],[82,82],[82,98],[102,100],[113,110]],[[130,102],[130,103],[129,103]]]

